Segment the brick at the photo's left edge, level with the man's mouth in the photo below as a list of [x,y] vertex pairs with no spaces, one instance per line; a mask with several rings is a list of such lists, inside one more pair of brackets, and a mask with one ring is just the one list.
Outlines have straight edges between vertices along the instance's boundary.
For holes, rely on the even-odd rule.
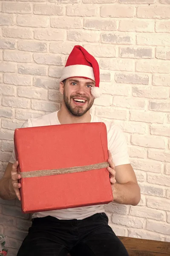
[[29,108],[30,100],[25,98],[15,98],[15,97],[3,97],[3,106],[13,107],[13,108]]

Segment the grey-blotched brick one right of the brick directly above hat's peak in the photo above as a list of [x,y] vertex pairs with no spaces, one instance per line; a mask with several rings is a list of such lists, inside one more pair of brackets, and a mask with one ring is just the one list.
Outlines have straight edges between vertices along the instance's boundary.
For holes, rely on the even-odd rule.
[[101,33],[101,41],[108,44],[135,44],[135,35],[125,32]]

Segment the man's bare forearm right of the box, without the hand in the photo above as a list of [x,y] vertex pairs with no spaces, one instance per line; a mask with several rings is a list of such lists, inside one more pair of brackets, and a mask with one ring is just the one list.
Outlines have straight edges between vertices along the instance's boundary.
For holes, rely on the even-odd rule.
[[141,199],[140,188],[133,182],[115,183],[112,185],[112,192],[113,199],[118,204],[137,205]]

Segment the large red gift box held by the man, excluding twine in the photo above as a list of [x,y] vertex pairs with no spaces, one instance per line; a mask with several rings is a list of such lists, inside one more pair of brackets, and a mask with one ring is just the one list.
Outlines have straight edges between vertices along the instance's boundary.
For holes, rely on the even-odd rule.
[[[108,159],[107,130],[103,122],[16,129],[14,145],[21,175],[40,170],[49,174],[52,169],[89,166]],[[113,200],[107,167],[22,177],[20,182],[25,213],[107,204]]]

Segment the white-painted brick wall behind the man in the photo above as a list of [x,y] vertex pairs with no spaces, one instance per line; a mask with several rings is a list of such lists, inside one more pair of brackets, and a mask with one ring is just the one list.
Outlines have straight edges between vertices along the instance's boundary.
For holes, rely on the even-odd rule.
[[[170,0],[0,2],[0,177],[14,129],[61,105],[58,78],[75,44],[101,68],[93,113],[124,130],[137,207],[106,206],[117,235],[170,241]],[[18,201],[0,200],[0,232],[15,256],[29,227]]]

